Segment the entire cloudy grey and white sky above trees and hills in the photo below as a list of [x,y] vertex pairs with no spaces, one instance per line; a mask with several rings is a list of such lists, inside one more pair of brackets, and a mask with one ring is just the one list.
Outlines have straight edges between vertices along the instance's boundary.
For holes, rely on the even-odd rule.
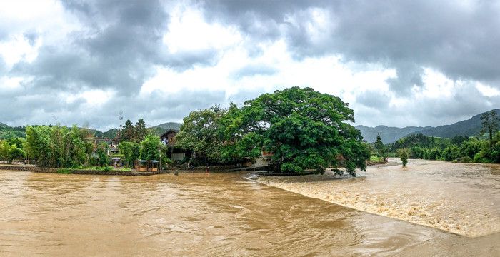
[[499,108],[500,1],[0,1],[9,125],[154,126],[290,86],[366,126]]

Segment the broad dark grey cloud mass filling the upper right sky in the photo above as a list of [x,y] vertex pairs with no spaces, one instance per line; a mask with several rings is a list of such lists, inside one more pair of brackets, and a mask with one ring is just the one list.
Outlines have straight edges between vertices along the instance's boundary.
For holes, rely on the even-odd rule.
[[[330,28],[311,40],[306,11],[329,11]],[[500,88],[500,5],[474,1],[207,1],[211,19],[236,23],[256,39],[284,38],[297,58],[340,54],[344,61],[376,62],[396,69],[391,90],[421,86],[422,67],[451,79],[493,82]],[[249,19],[256,17],[256,19]],[[286,17],[296,19],[291,24]],[[265,34],[255,24],[273,29]],[[269,25],[269,26],[267,26]],[[282,29],[285,28],[285,29]]]

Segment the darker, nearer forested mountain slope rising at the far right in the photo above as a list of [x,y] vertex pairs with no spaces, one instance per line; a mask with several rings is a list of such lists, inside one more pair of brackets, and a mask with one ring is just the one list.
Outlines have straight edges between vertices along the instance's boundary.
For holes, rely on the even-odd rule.
[[[500,109],[494,109],[494,111],[496,111],[496,116],[500,119]],[[441,138],[452,138],[454,136],[476,136],[479,134],[479,131],[481,131],[481,126],[481,114],[477,114],[466,121],[459,121],[451,125],[422,129],[421,131],[413,132],[413,134],[422,133],[425,136],[437,136]]]

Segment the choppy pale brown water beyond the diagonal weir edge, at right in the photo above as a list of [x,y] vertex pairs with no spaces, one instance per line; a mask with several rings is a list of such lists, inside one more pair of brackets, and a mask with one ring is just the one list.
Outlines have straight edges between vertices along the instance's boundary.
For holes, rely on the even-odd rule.
[[500,232],[500,166],[410,160],[371,166],[358,178],[261,176],[257,181],[341,206],[468,237]]

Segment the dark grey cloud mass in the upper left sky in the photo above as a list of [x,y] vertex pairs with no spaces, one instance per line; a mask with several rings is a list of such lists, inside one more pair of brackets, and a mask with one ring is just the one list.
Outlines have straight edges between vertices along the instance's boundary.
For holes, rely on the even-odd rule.
[[36,76],[34,88],[114,88],[135,94],[153,66],[166,63],[161,38],[169,16],[158,1],[63,3],[84,26],[60,45],[41,46],[35,61],[14,66],[11,74]]

